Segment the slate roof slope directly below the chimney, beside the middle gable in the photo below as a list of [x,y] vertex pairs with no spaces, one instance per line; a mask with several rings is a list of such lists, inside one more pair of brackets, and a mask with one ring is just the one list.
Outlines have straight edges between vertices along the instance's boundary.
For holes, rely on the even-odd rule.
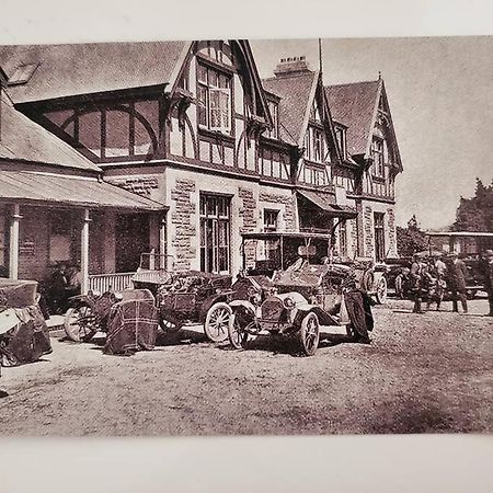
[[305,122],[310,111],[310,96],[317,84],[319,72],[283,74],[263,79],[264,89],[278,95],[279,101],[279,137],[294,146],[305,137]]

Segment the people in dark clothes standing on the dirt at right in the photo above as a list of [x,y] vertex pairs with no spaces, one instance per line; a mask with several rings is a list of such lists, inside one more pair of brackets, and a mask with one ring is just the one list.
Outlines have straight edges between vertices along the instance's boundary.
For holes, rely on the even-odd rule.
[[[490,311],[486,314],[493,317],[493,250],[483,252],[481,271],[490,305]],[[401,273],[400,278],[397,279],[397,290],[398,294],[399,291],[402,293],[402,285],[405,279],[409,284],[409,293],[414,299],[413,312],[415,313],[424,312],[424,300],[427,310],[431,309],[433,303],[436,303],[436,309],[439,310],[446,291],[450,293],[452,311],[459,311],[460,301],[462,311],[467,313],[467,266],[456,253],[428,259],[414,255],[411,268]]]

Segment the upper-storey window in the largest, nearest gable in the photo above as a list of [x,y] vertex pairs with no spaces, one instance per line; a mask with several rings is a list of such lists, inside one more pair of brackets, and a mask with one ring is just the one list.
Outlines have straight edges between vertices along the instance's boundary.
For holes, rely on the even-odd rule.
[[231,76],[197,64],[198,125],[231,133]]

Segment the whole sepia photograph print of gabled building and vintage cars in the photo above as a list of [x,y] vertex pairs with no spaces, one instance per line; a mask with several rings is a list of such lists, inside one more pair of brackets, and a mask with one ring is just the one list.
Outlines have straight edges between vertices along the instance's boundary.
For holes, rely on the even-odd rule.
[[491,432],[492,53],[0,46],[1,434]]

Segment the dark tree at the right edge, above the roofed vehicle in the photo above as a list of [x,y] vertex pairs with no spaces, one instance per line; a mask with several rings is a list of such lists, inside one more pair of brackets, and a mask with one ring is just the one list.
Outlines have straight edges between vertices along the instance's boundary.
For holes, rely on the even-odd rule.
[[471,198],[460,197],[455,231],[493,231],[493,181],[484,186],[475,179],[475,193]]

